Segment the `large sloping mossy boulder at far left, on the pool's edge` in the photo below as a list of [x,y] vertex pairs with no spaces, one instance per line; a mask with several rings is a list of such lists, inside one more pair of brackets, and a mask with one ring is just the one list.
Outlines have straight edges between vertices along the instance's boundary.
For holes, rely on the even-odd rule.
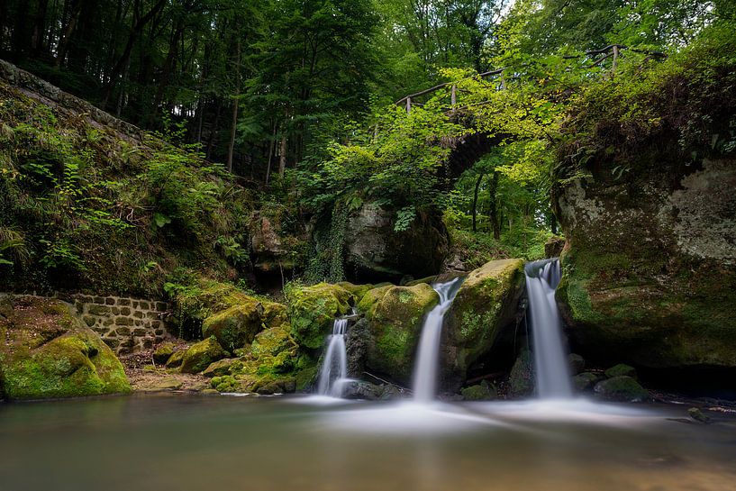
[[9,399],[96,396],[131,390],[123,365],[68,305],[21,296],[0,316],[0,380]]

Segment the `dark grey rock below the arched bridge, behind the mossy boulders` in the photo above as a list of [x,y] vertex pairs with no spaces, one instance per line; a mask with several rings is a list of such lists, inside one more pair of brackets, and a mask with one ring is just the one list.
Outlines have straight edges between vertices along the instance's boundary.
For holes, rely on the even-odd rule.
[[449,234],[439,213],[419,213],[409,229],[394,231],[395,214],[363,205],[345,230],[346,268],[361,282],[437,274],[449,250]]

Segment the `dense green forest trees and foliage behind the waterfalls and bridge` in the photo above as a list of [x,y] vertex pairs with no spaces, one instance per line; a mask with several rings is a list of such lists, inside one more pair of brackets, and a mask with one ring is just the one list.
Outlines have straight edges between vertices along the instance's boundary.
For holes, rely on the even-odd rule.
[[[114,211],[121,200],[134,209],[146,199],[111,198],[102,190],[114,188],[110,176],[77,186],[77,195],[67,189],[68,199],[85,195],[86,205],[88,195],[108,194],[94,202],[101,214],[65,208],[82,216],[72,229],[87,221],[120,233],[131,226],[156,232],[170,223],[177,231],[169,232],[168,248],[191,248],[183,237],[198,234],[240,268],[254,208],[284,207],[275,220],[282,229],[322,216],[325,241],[336,241],[344,215],[372,201],[392,211],[396,231],[440,209],[456,247],[533,258],[558,232],[550,210],[554,179],[575,177],[575,164],[593,153],[576,147],[571,168],[559,172],[559,161],[570,160],[560,159],[560,149],[574,148],[577,138],[566,126],[570,108],[585,107],[613,77],[619,85],[599,105],[643,94],[642,84],[685,69],[663,63],[686,50],[728,56],[721,51],[732,46],[735,11],[728,0],[0,0],[0,57],[186,155],[222,164],[195,165],[169,150],[141,164],[137,176],[156,189],[146,198],[144,222]],[[487,72],[493,77],[478,76]],[[395,105],[449,82],[410,112],[404,102]],[[447,109],[456,96],[462,117]],[[17,114],[5,115],[20,124]],[[18,150],[30,131],[11,126],[17,155],[4,164],[12,170],[4,174],[7,196],[28,186],[16,179],[23,172],[37,179],[34,186],[65,189],[64,166],[41,182],[46,171],[38,165],[52,163]],[[453,142],[471,133],[482,133],[493,149],[453,174],[446,168]],[[26,142],[37,136],[27,134]],[[80,144],[57,143],[69,154]],[[79,156],[84,167],[89,154]],[[619,177],[627,171],[619,169]],[[230,188],[201,185],[207,179],[198,172],[232,175],[250,195],[233,204]],[[186,184],[173,185],[171,175]],[[90,179],[66,176],[67,183]],[[35,232],[23,230],[18,210],[25,205],[12,201],[4,209],[15,218],[0,223],[0,261],[19,268],[36,255],[47,268],[84,270],[78,238],[43,235],[41,219]],[[200,237],[214,215],[227,223]],[[141,233],[150,240],[152,232]],[[34,234],[43,236],[43,250],[34,249]],[[343,276],[330,257],[335,248],[318,246],[316,255],[297,249],[295,261],[315,279]],[[316,257],[321,265],[310,262]],[[141,277],[162,268],[157,258],[150,251],[140,259]]]

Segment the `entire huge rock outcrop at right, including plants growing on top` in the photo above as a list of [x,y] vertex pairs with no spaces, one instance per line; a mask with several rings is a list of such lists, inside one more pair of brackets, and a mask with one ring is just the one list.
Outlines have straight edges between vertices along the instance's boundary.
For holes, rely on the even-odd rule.
[[567,238],[557,296],[596,364],[736,367],[733,39],[571,109],[553,191]]

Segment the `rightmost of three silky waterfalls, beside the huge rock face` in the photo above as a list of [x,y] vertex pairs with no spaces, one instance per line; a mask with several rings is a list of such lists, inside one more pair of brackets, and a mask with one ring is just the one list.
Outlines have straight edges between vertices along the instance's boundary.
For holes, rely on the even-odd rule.
[[527,263],[526,292],[534,343],[537,394],[543,399],[565,399],[573,395],[562,323],[555,301],[559,284],[559,259]]

